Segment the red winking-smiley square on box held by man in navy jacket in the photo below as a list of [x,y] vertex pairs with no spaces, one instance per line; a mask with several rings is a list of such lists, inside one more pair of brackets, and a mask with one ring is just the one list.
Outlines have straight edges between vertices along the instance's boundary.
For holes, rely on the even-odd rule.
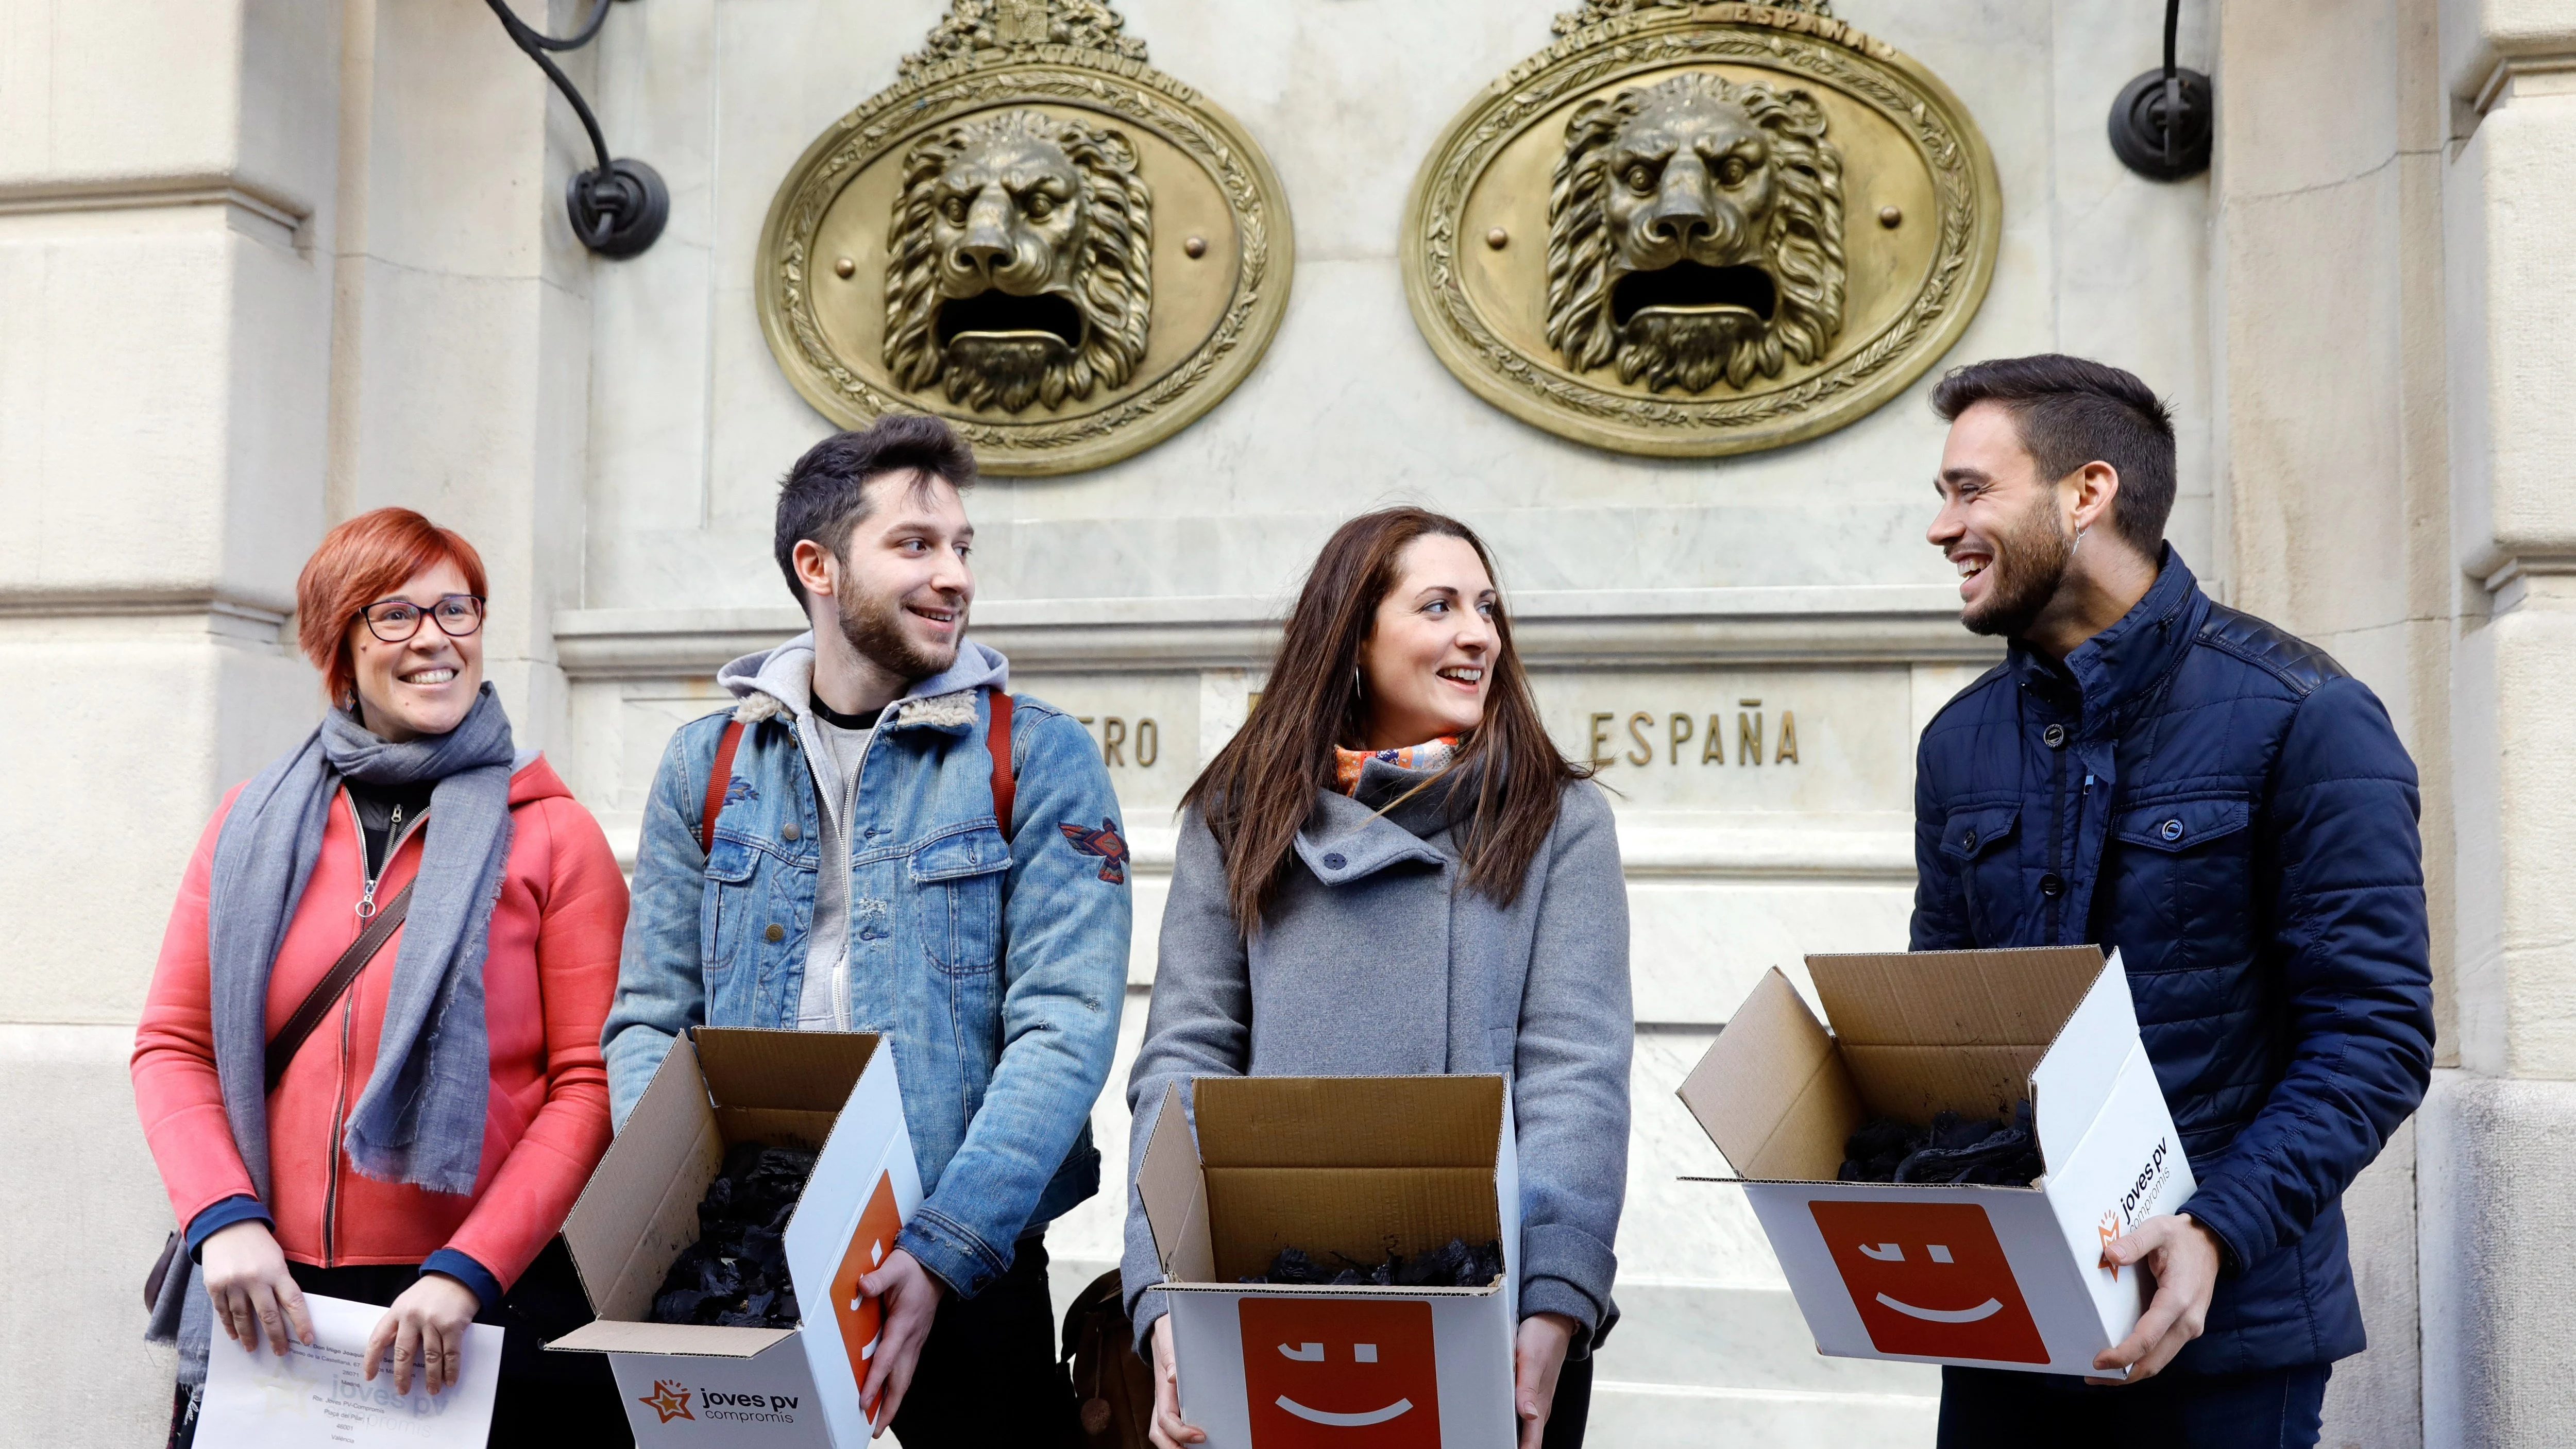
[[1880,1354],[2045,1364],[2048,1346],[1973,1202],[1808,1202]]

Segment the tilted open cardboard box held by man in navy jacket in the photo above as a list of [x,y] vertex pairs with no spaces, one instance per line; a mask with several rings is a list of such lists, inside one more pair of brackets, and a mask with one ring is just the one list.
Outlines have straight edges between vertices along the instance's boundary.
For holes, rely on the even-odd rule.
[[[1777,970],[1682,1102],[1744,1179],[1819,1354],[2092,1374],[2146,1307],[2102,1248],[2192,1197],[2138,1042],[2120,955],[2097,947],[1811,955],[1816,1022]],[[1834,1181],[1870,1117],[2030,1102],[2032,1186]]]

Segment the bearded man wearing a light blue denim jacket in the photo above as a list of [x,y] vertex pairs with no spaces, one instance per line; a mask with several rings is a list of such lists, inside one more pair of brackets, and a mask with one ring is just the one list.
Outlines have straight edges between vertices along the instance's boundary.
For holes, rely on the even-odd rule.
[[[963,638],[974,474],[945,422],[886,417],[781,486],[778,569],[814,628],[726,664],[739,703],[662,757],[608,1091],[623,1127],[696,1024],[884,1032],[925,1197],[863,1279],[886,1328],[860,1398],[907,1444],[1077,1444],[1041,1235],[1100,1189],[1126,839],[1100,749],[1061,710],[1010,697],[997,770],[1010,664]],[[701,849],[726,721],[742,734]]]

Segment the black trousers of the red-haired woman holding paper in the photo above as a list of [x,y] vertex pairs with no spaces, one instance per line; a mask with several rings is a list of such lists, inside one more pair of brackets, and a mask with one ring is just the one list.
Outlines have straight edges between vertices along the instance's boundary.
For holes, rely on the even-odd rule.
[[[286,1264],[296,1287],[322,1297],[374,1302],[389,1307],[402,1289],[420,1282],[417,1266],[348,1266],[312,1269]],[[585,1449],[634,1444],[626,1428],[626,1405],[618,1403],[618,1382],[608,1372],[603,1354],[546,1354],[546,1338],[572,1333],[590,1323],[590,1302],[572,1271],[564,1243],[554,1241],[536,1264],[520,1274],[510,1300],[474,1315],[502,1331],[500,1341],[500,1392],[492,1400],[489,1449],[556,1449],[582,1444]],[[229,1338],[216,1338],[214,1351],[232,1349]],[[232,1349],[240,1354],[240,1349]],[[389,1372],[389,1369],[386,1369]],[[188,1418],[188,1390],[180,1390],[180,1416],[173,1423],[170,1446],[191,1449],[196,1423]]]

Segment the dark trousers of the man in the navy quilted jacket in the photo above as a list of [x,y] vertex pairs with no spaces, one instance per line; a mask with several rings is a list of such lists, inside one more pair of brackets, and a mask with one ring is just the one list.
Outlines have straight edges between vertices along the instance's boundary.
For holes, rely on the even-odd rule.
[[2254,1374],[2156,1374],[2094,1387],[2071,1374],[1940,1372],[1940,1449],[2308,1449],[2329,1364]]

